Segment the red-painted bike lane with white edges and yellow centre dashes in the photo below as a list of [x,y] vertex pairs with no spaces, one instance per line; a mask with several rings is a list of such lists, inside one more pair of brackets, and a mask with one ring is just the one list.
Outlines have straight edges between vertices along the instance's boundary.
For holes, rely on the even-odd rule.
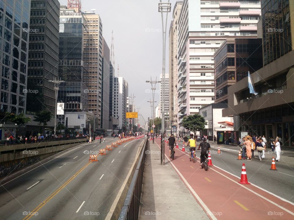
[[[158,147],[160,140],[155,140]],[[200,159],[193,163],[189,153],[175,148],[174,160],[165,155],[192,195],[211,219],[293,219],[294,206],[254,185],[241,185],[240,178],[212,166],[204,171]],[[246,164],[245,164],[246,165]],[[242,167],[240,167],[241,174]]]

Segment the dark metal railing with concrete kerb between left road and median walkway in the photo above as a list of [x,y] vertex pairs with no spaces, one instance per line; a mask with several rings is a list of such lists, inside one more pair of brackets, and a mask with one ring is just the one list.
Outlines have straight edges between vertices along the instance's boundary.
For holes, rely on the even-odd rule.
[[142,149],[138,165],[134,172],[134,176],[130,184],[128,193],[126,194],[126,199],[123,203],[123,207],[119,214],[118,220],[137,220],[139,218],[143,175],[146,159],[145,149],[147,146],[147,141]]

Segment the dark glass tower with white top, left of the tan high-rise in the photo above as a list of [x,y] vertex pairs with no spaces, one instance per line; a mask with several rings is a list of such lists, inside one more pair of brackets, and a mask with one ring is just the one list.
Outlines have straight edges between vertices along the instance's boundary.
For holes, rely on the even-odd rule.
[[83,80],[88,72],[83,54],[85,33],[83,14],[60,6],[58,77],[65,82],[59,86],[58,102],[65,103],[67,112],[88,110],[88,87]]

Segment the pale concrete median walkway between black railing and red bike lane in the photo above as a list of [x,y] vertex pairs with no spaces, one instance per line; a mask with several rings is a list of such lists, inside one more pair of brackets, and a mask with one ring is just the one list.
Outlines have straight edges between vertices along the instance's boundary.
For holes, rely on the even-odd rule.
[[160,149],[148,141],[139,219],[209,219]]

